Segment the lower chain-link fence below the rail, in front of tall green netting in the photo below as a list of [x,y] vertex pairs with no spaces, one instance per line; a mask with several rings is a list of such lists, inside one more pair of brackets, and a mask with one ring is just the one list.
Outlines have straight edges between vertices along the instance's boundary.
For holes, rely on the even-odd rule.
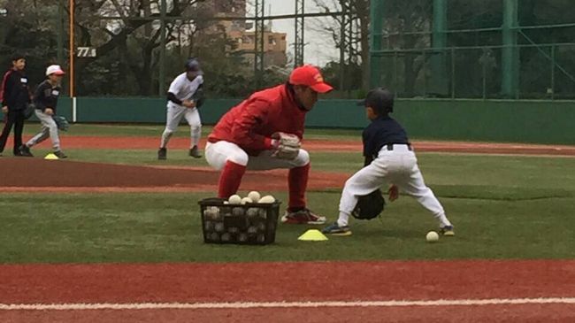
[[[502,94],[502,46],[393,50],[381,54],[380,84],[399,97],[573,99],[575,43],[520,45],[517,90]],[[439,71],[433,60],[439,61]],[[573,71],[575,72],[575,71]]]

